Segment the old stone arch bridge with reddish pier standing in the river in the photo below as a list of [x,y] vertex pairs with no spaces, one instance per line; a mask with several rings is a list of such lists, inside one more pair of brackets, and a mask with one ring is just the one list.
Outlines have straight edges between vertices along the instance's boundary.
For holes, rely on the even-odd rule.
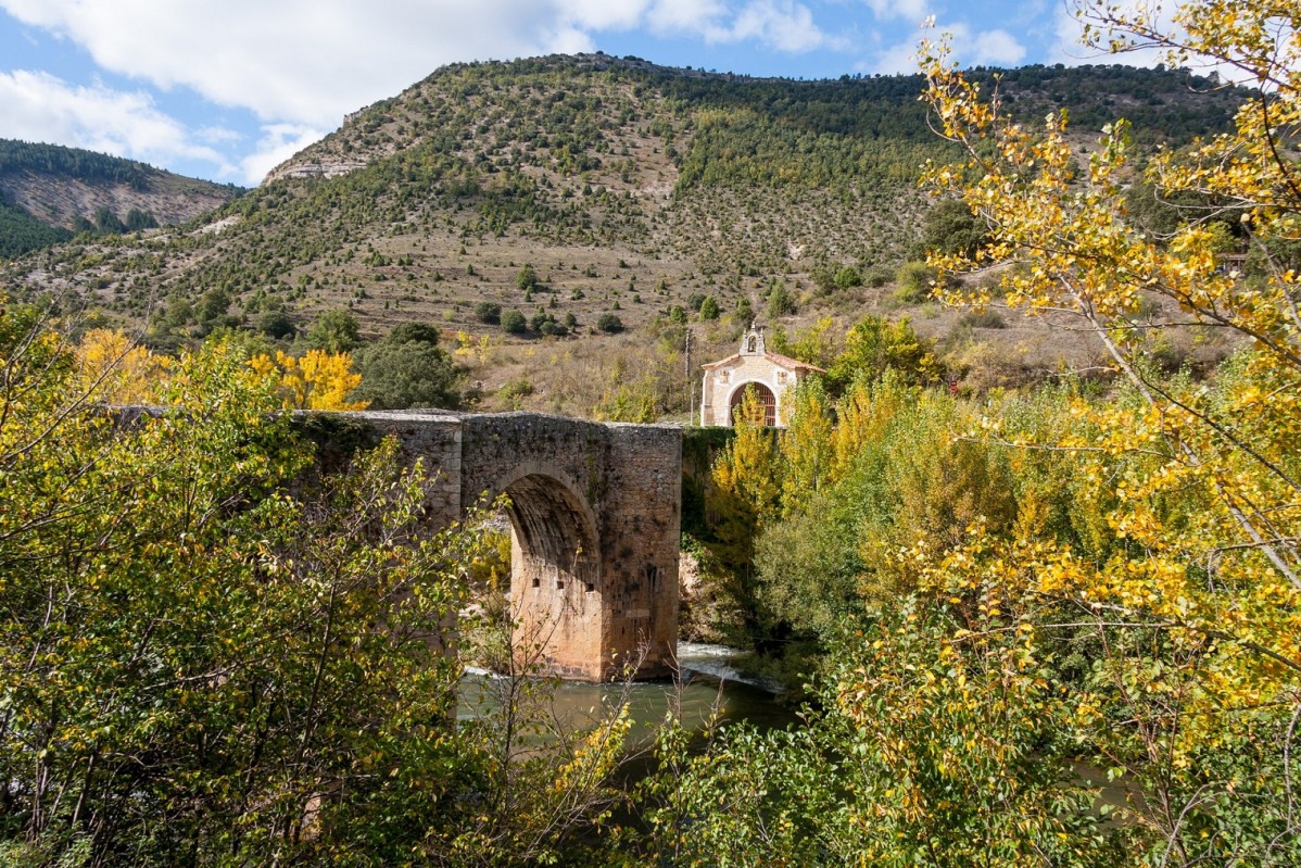
[[606,681],[639,658],[639,678],[671,673],[680,429],[533,413],[325,415],[392,435],[409,461],[424,458],[437,475],[436,522],[509,496],[516,653],[540,645],[546,669],[580,681]]

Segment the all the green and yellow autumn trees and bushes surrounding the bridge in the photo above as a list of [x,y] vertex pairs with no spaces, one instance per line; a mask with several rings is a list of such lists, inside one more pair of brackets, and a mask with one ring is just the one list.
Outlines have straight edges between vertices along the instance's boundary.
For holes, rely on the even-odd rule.
[[[950,204],[895,292],[973,329],[1055,318],[1097,363],[978,384],[908,318],[826,318],[774,329],[826,371],[785,428],[747,401],[731,433],[686,433],[708,465],[683,517],[705,588],[688,629],[761,652],[800,708],[785,729],[670,711],[639,738],[618,691],[562,724],[557,685],[510,651],[494,506],[431,534],[437,468],[278,413],[461,401],[470,336],[407,321],[363,345],[349,310],[298,329],[275,302],[254,334],[220,282],[170,294],[147,342],[7,299],[0,861],[1297,864],[1301,35],[1280,16],[1301,9],[1188,3],[1168,29],[1082,9],[1093,47],[1155,43],[1255,91],[1227,130],[1151,152],[1116,118],[1081,159],[1072,112],[1028,126],[924,42],[945,142],[921,182]],[[476,69],[467,87],[490,86]],[[298,195],[232,208],[258,225]],[[500,267],[510,292],[578,272],[539,262]],[[636,284],[622,265],[600,268]],[[656,328],[752,312],[714,293]],[[498,331],[569,328],[484,301],[467,315]],[[298,351],[275,342],[295,329]],[[1213,340],[1211,359],[1176,351]],[[423,371],[441,394],[411,394]],[[654,418],[644,397],[605,400]],[[356,449],[323,454],[314,427]],[[462,714],[470,665],[498,677]]]

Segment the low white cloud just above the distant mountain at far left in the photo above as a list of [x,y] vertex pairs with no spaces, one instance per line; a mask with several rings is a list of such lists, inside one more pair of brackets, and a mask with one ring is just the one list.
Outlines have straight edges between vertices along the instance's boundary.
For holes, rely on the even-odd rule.
[[159,111],[146,92],[116,91],[98,83],[74,86],[43,72],[0,72],[0,135],[83,147],[155,165],[185,159],[212,163],[222,174],[235,170],[207,144],[228,139],[229,130],[195,134]]

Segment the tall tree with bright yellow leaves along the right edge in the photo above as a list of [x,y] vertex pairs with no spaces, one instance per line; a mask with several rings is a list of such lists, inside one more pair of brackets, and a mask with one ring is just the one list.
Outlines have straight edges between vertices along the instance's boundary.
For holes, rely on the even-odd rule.
[[[933,256],[943,272],[984,272],[937,294],[946,302],[1066,311],[1090,331],[1120,376],[1115,400],[1077,400],[1077,424],[1053,441],[998,429],[1012,448],[1063,450],[1080,474],[1114,488],[1107,514],[1123,553],[1081,557],[1025,511],[1015,539],[973,524],[941,562],[917,558],[924,582],[977,595],[994,630],[1095,630],[1094,695],[1077,703],[1082,739],[1140,776],[1140,824],[1159,834],[1162,864],[1235,859],[1294,864],[1292,752],[1301,720],[1301,4],[1151,4],[1080,0],[1085,42],[1106,51],[1158,48],[1171,64],[1203,62],[1241,81],[1231,133],[1146,167],[1119,121],[1077,177],[1066,112],[1038,129],[958,72],[946,40],[924,42],[926,99],[960,163],[926,182],[985,220],[978,249]],[[1125,210],[1138,177],[1200,206],[1168,238]],[[1218,258],[1237,226],[1253,263]],[[974,286],[974,288],[972,288]],[[1150,364],[1162,336],[1215,331],[1235,351],[1211,383]],[[1062,623],[1028,613],[1056,606]],[[1119,636],[1119,639],[1118,639]],[[852,692],[853,686],[848,687]],[[1249,757],[1249,759],[1248,759]],[[1226,822],[1257,812],[1255,839]],[[1281,861],[1280,861],[1281,859]],[[1228,860],[1228,861],[1226,861]]]

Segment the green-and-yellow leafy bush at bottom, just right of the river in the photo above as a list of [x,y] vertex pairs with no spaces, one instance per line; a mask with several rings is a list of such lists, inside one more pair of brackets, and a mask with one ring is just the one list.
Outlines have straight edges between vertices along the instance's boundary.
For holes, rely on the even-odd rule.
[[1115,865],[1055,738],[1069,707],[1017,631],[935,642],[943,608],[903,600],[835,649],[805,726],[661,730],[643,863]]

